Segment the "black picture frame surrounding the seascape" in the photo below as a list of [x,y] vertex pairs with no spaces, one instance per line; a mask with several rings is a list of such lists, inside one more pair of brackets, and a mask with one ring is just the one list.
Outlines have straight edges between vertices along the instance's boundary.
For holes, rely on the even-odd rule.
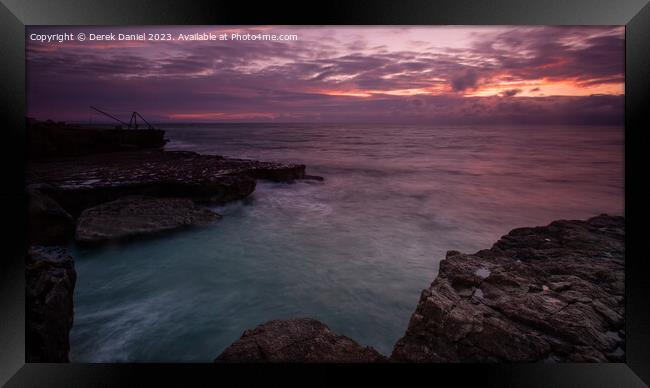
[[[25,131],[25,26],[27,25],[625,25],[626,363],[277,365],[29,364],[25,363],[23,243],[23,138]],[[4,147],[0,217],[0,384],[124,386],[198,379],[225,383],[269,378],[278,382],[337,383],[342,374],[363,379],[424,378],[428,384],[525,387],[643,387],[650,384],[650,280],[645,257],[643,181],[632,162],[644,154],[650,129],[650,5],[647,0],[390,0],[300,4],[171,0],[0,0],[0,99]],[[633,196],[632,193],[635,193]],[[256,372],[249,370],[255,368]],[[302,376],[298,379],[298,372]],[[305,373],[306,372],[306,373]],[[451,379],[451,380],[450,380]]]

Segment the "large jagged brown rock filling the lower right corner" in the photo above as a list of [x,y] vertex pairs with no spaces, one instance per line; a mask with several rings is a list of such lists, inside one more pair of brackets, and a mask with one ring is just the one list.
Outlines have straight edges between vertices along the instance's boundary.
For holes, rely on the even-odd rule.
[[624,360],[624,227],[607,215],[555,221],[448,253],[391,360]]

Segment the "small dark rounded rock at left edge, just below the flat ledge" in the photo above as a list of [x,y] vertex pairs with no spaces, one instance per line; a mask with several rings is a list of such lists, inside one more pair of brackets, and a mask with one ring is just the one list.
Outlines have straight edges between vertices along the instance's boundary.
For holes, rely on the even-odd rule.
[[65,244],[74,233],[72,216],[37,188],[27,189],[27,201],[28,244]]

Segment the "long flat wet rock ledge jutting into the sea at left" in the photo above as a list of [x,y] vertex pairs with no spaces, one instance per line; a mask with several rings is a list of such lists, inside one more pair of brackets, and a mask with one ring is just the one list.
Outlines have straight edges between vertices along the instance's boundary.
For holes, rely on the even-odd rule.
[[127,195],[183,197],[225,203],[247,197],[256,179],[302,179],[299,164],[226,159],[185,151],[139,150],[30,161],[28,183],[48,183],[43,192],[72,216]]

